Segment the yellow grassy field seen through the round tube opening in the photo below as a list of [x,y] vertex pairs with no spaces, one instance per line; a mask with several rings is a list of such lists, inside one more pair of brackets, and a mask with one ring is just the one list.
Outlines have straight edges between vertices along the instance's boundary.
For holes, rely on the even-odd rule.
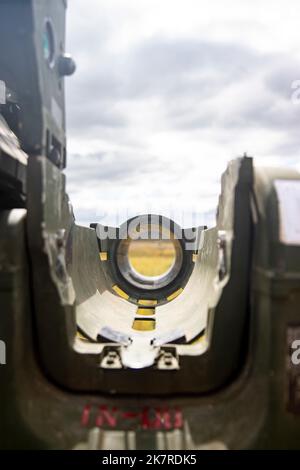
[[176,249],[172,240],[131,240],[128,261],[141,276],[164,276],[175,264]]

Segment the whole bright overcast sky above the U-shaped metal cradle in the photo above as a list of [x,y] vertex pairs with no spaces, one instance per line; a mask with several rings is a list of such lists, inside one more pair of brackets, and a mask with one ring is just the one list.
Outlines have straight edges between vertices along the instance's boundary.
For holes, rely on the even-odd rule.
[[211,223],[232,158],[300,170],[299,0],[68,3],[78,222],[151,211]]

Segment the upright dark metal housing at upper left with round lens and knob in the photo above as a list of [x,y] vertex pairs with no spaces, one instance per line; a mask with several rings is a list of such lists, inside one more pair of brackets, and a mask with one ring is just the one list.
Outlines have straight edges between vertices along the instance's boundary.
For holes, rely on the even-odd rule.
[[[0,73],[13,102],[8,123],[31,155],[65,166],[66,0],[1,0]],[[69,64],[69,67],[67,66]]]

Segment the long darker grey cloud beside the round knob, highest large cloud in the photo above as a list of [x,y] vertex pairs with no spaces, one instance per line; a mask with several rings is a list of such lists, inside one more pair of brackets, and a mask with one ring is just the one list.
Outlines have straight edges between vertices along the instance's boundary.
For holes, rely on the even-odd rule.
[[[195,92],[209,96],[265,60],[251,49],[231,43],[152,38],[127,54],[91,54],[74,91],[83,100],[104,101]],[[193,80],[190,74],[196,72],[199,76]]]

